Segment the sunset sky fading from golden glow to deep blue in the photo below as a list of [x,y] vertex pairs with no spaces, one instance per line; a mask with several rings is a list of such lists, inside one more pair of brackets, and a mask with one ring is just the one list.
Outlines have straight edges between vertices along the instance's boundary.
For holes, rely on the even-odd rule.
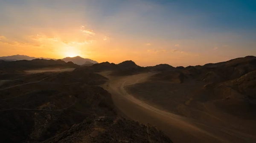
[[0,56],[140,66],[256,56],[256,0],[0,0]]

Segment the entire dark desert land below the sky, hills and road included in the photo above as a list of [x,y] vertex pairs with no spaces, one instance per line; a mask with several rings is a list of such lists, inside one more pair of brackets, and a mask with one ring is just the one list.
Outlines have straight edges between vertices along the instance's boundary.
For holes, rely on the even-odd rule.
[[[23,72],[55,67],[76,69]],[[188,67],[0,60],[0,95],[4,143],[256,141],[255,56]]]

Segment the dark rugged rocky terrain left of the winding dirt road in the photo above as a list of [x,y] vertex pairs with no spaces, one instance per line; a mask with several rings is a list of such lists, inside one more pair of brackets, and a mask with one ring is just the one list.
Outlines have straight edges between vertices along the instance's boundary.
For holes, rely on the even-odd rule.
[[1,143],[172,143],[153,126],[119,118],[97,73],[21,69],[0,75]]

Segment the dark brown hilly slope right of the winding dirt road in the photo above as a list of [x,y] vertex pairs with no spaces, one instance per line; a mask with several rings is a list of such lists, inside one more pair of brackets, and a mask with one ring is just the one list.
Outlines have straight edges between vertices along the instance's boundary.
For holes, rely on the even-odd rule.
[[[253,134],[256,127],[256,57],[169,68],[126,87],[134,97],[165,111]],[[160,72],[159,72],[160,71]],[[254,134],[253,134],[254,135]]]

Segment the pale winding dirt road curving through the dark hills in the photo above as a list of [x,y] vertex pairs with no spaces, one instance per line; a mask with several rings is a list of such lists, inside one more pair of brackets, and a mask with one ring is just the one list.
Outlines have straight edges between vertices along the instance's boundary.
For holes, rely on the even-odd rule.
[[108,72],[100,74],[110,79],[102,87],[111,93],[119,115],[156,126],[165,132],[174,143],[256,143],[256,137],[162,111],[145,104],[125,91],[125,86],[146,80],[154,73],[122,78],[108,76]]

